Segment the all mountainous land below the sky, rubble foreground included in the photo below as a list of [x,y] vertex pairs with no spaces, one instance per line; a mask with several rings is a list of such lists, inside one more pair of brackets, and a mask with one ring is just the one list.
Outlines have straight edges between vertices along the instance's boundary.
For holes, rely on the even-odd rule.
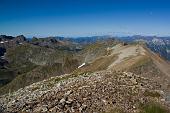
[[2,35],[0,55],[2,113],[169,113],[169,37]]

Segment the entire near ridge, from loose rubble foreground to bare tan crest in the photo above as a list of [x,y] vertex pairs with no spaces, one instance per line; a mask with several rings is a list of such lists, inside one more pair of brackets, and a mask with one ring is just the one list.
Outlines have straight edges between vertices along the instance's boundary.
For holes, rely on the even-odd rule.
[[88,62],[83,59],[89,52],[82,53],[83,65],[70,74],[2,95],[1,112],[169,113],[166,61],[144,45],[121,43],[105,50]]

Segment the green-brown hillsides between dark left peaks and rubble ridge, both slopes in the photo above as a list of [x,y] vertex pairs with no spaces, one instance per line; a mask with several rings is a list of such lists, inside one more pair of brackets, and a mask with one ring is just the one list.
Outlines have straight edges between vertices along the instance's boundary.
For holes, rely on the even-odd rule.
[[[3,79],[0,94],[15,91],[51,76],[70,73],[78,67],[79,61],[71,52],[25,44],[11,48],[6,53],[12,72],[0,70]],[[11,75],[11,73],[14,73]]]

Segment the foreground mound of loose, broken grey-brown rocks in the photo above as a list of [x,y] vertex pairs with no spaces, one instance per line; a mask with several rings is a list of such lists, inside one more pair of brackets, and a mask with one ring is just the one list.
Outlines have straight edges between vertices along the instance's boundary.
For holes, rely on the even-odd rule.
[[141,105],[167,106],[160,85],[129,72],[63,75],[0,97],[0,112],[100,113],[114,109],[139,113]]

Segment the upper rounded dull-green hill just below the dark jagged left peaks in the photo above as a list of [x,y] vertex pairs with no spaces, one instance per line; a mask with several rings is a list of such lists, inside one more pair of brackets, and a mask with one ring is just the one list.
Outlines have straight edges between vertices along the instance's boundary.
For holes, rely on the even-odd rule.
[[36,65],[48,65],[54,63],[64,53],[53,49],[25,44],[11,48],[7,51],[6,57],[10,67],[21,67],[29,62]]

